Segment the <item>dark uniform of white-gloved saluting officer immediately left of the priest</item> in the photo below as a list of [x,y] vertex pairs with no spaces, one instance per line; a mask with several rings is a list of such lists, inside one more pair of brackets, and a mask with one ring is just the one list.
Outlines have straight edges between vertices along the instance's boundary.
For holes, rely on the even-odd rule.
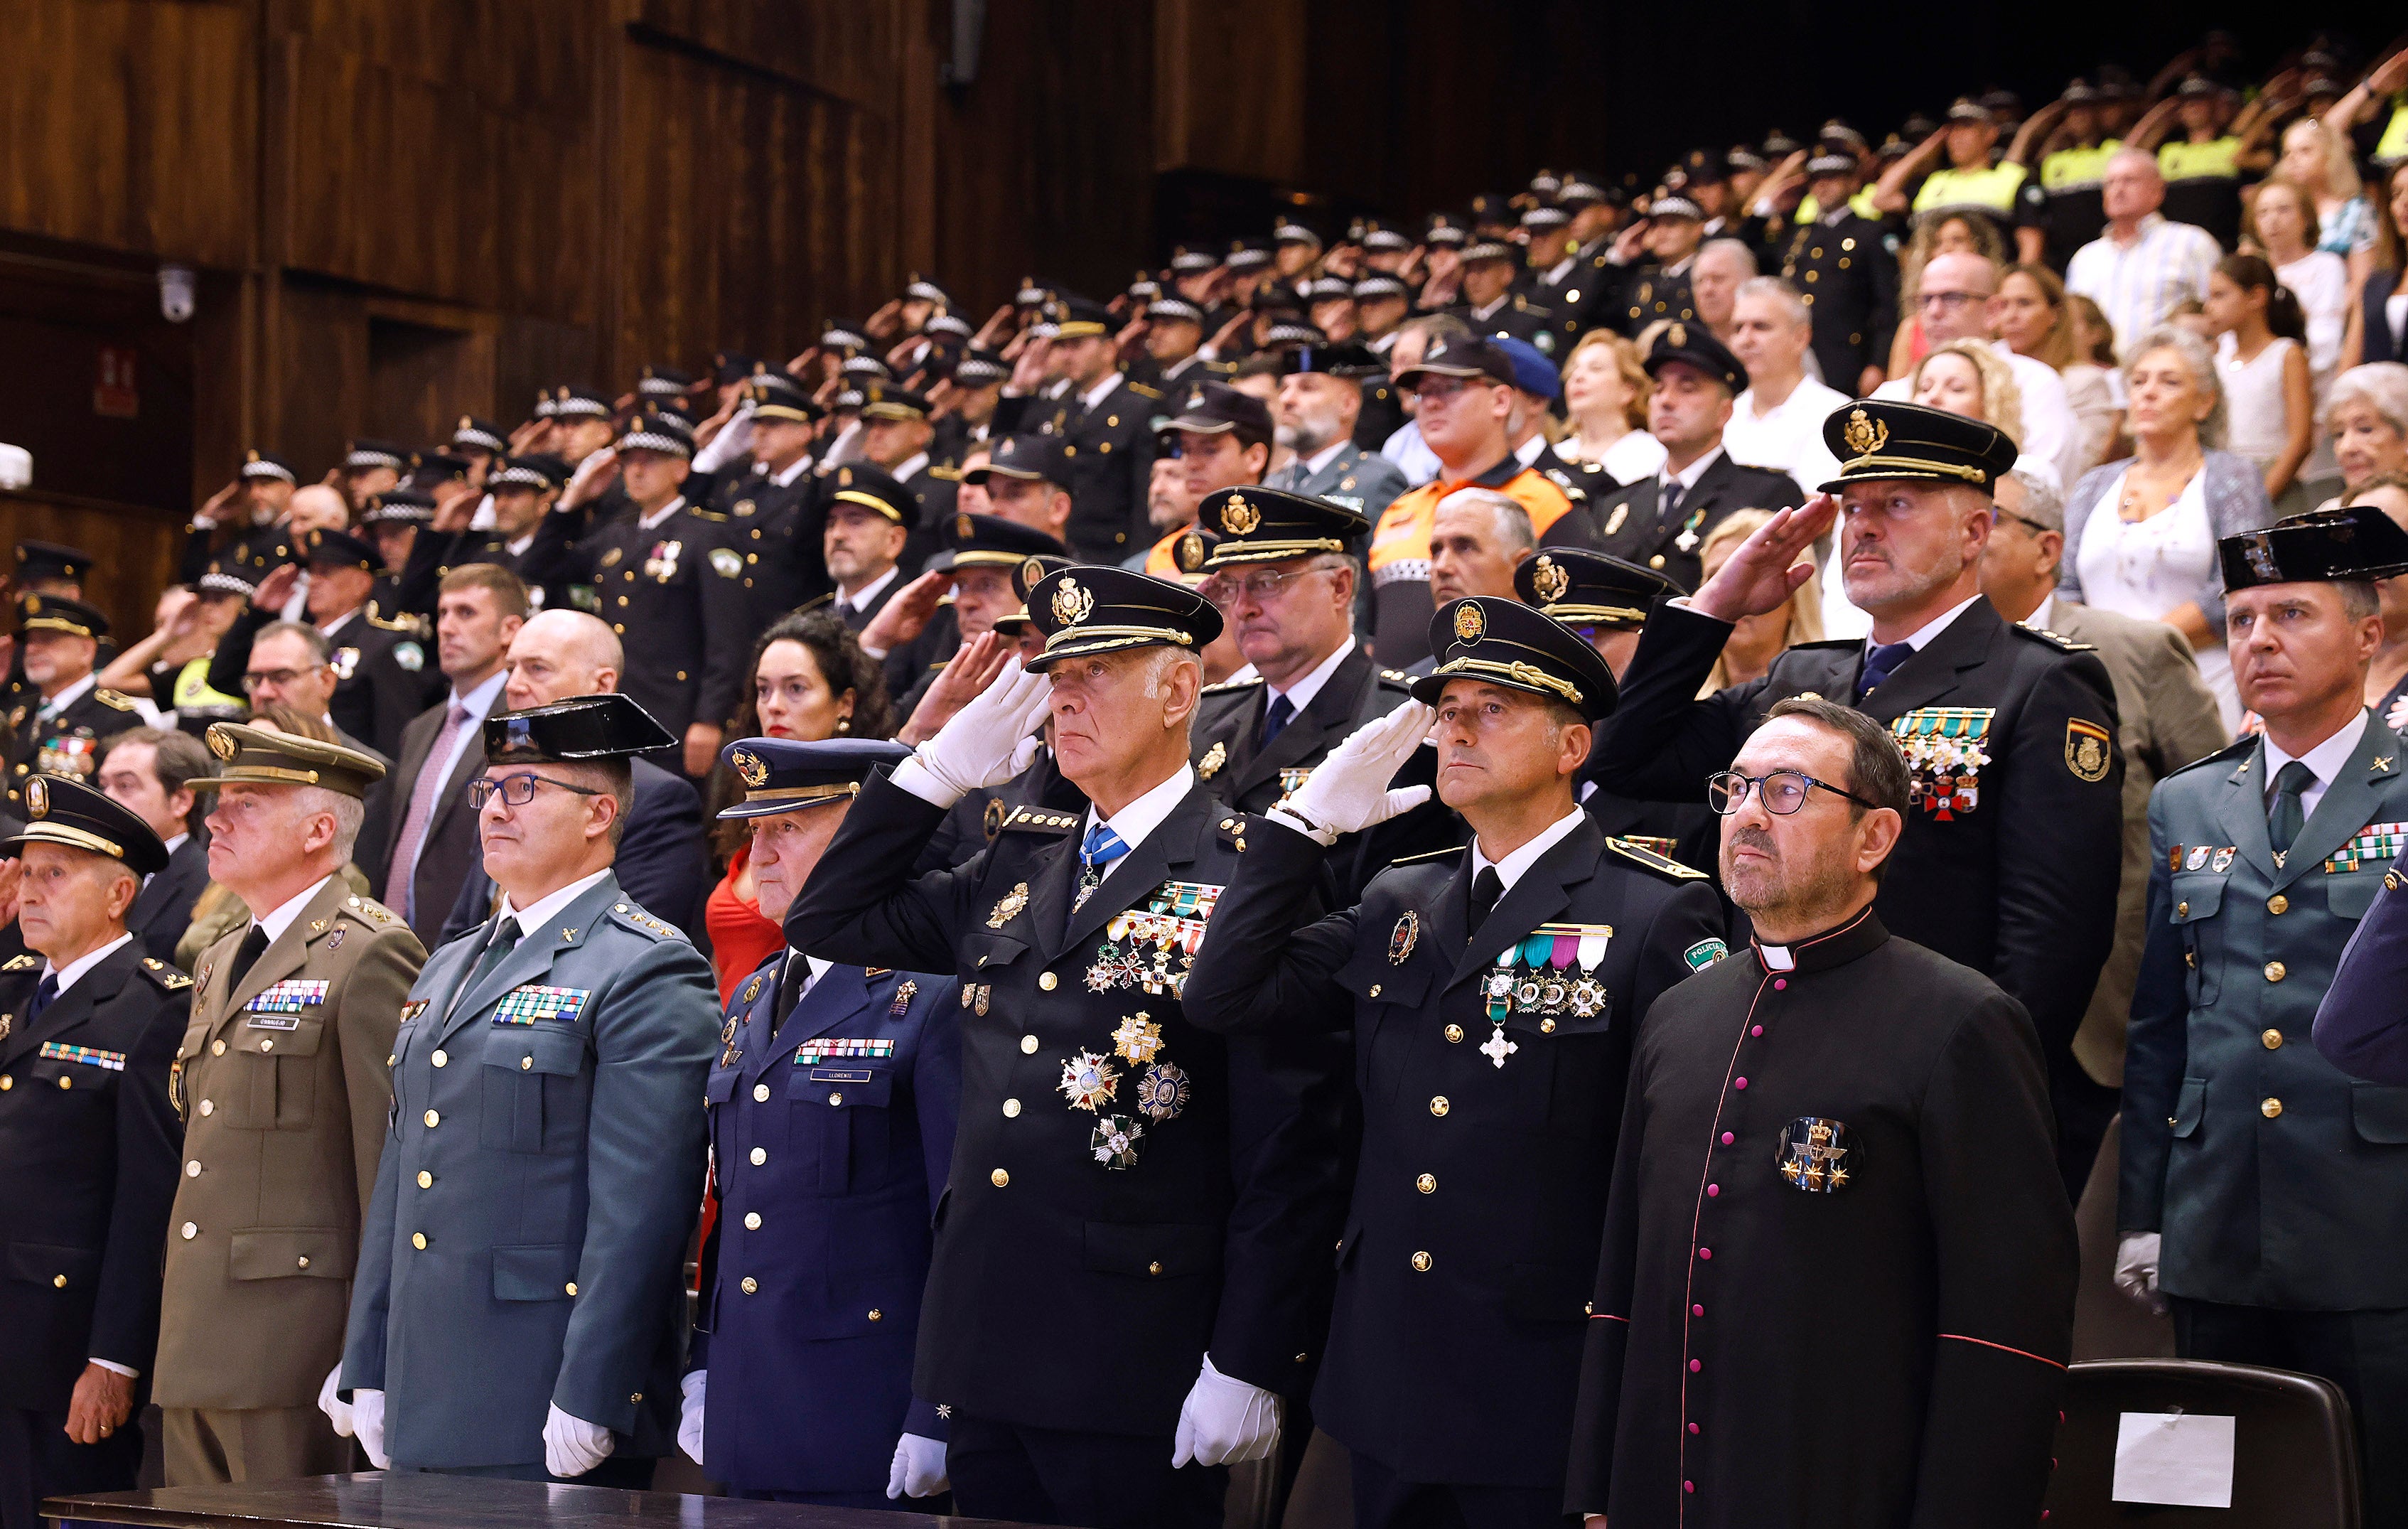
[[1187,1002],[1216,1031],[1353,1031],[1363,1146],[1312,1404],[1370,1469],[1356,1524],[1553,1524],[1630,1045],[1724,956],[1722,905],[1580,816],[1479,925],[1450,850],[1298,932],[1324,850],[1252,840]]

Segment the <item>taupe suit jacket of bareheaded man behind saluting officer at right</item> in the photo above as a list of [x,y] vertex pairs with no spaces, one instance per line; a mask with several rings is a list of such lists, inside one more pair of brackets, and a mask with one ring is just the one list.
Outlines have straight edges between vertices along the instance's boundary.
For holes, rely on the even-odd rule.
[[2073,1059],[2095,1081],[2119,1088],[2124,1026],[2148,934],[2148,792],[2232,739],[2225,737],[2208,681],[2199,677],[2191,643],[2165,621],[2056,600],[2047,626],[2097,648],[2114,681],[2117,746],[2124,751],[2124,881],[2114,905],[2114,949],[2100,968],[2083,1028],[2073,1035]]

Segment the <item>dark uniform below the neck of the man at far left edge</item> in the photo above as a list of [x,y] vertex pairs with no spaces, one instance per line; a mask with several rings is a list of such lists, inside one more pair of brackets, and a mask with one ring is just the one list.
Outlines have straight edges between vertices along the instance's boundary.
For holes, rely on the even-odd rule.
[[[159,1250],[181,1129],[166,1074],[193,982],[132,939],[26,1009],[41,956],[0,966],[0,1527],[51,1493],[130,1490],[159,1341]],[[132,1418],[94,1445],[67,1401],[94,1358],[137,1372]]]

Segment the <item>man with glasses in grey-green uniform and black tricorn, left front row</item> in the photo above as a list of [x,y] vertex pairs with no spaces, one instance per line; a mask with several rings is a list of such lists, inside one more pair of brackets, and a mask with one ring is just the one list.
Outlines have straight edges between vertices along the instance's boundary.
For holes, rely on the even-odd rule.
[[674,742],[626,696],[484,720],[503,901],[402,1006],[352,1286],[337,1399],[378,1469],[643,1488],[674,1447],[720,1004],[612,876],[628,761]]

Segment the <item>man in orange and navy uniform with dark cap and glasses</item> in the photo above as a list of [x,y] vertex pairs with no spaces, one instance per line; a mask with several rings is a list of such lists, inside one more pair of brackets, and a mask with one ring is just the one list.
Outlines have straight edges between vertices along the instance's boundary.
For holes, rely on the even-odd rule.
[[1430,655],[1430,532],[1438,501],[1457,489],[1495,489],[1524,510],[1539,537],[1572,498],[1512,455],[1512,356],[1459,327],[1433,327],[1421,361],[1397,376],[1413,400],[1421,441],[1438,453],[1438,477],[1399,494],[1370,537],[1373,650],[1404,669]]

